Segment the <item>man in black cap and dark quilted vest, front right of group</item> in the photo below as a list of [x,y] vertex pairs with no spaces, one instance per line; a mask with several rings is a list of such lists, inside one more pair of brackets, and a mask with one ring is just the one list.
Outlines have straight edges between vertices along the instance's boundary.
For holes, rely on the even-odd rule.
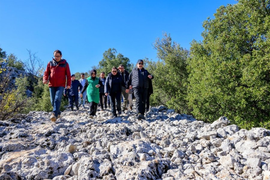
[[128,81],[126,82],[126,92],[128,93],[129,89],[131,88],[134,91],[137,119],[145,119],[144,113],[149,79],[153,78],[154,76],[143,68],[142,59],[137,61],[137,67],[132,69],[131,73],[129,74]]

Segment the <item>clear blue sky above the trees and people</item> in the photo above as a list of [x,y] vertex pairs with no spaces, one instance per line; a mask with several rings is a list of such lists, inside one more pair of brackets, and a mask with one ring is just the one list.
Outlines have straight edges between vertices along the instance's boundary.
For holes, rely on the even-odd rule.
[[0,0],[0,47],[22,61],[26,49],[44,65],[60,49],[71,73],[98,65],[109,48],[130,58],[157,60],[153,44],[164,32],[189,49],[202,40],[202,22],[234,0]]

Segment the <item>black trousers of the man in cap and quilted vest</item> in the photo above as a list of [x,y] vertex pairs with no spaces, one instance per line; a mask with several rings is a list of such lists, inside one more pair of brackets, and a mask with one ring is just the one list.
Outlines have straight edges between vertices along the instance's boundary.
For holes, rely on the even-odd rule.
[[144,115],[145,113],[147,90],[148,88],[133,89],[136,99],[135,105],[137,114],[141,113],[142,115]]

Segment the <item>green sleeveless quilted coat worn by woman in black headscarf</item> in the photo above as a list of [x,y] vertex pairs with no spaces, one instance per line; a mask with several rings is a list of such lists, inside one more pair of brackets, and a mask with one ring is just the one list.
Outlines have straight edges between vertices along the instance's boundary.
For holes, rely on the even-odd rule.
[[87,100],[88,102],[99,102],[99,88],[96,88],[96,85],[98,85],[99,79],[95,78],[93,80],[91,77],[87,78],[88,86],[87,86]]

